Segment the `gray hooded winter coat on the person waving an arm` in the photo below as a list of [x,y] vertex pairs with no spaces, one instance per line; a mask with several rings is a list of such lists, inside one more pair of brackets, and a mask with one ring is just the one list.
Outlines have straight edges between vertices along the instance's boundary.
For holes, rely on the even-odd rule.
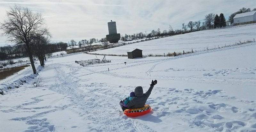
[[135,88],[134,93],[136,96],[127,104],[130,109],[133,108],[141,108],[144,107],[149,95],[154,86],[150,86],[146,93],[143,93],[143,89],[141,86]]

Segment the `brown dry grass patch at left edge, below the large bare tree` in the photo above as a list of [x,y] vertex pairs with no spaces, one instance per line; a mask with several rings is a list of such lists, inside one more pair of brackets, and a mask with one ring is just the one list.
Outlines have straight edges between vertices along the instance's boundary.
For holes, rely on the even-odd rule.
[[25,67],[29,67],[30,65],[24,65],[24,66],[19,66],[19,67],[12,67],[12,68],[7,68],[7,69],[1,69],[0,70],[0,80],[5,79],[7,77],[10,77],[17,72],[25,69]]

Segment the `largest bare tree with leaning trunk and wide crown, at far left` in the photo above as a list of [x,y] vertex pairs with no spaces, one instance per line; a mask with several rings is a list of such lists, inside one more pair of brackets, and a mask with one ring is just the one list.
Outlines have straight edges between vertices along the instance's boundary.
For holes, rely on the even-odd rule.
[[36,74],[30,42],[37,35],[51,36],[51,34],[41,13],[33,12],[28,7],[21,7],[17,4],[14,7],[10,7],[10,9],[10,11],[6,11],[6,19],[1,23],[0,28],[4,31],[2,35],[7,36],[6,41],[8,42],[13,42],[17,45],[26,44],[33,73]]

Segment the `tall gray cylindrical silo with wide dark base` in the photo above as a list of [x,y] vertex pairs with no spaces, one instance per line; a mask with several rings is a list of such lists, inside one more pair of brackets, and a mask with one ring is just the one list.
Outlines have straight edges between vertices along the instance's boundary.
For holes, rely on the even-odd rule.
[[108,35],[106,35],[106,38],[110,43],[117,43],[121,38],[120,33],[116,31],[116,22],[112,20],[108,22]]

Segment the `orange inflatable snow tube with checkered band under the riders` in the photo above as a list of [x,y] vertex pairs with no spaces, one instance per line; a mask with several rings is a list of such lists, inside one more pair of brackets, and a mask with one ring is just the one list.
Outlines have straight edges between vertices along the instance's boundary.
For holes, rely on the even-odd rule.
[[144,115],[147,114],[148,112],[150,112],[151,107],[149,105],[145,105],[144,107],[141,108],[136,108],[136,109],[126,109],[124,110],[124,114],[127,116],[140,116],[140,115]]

